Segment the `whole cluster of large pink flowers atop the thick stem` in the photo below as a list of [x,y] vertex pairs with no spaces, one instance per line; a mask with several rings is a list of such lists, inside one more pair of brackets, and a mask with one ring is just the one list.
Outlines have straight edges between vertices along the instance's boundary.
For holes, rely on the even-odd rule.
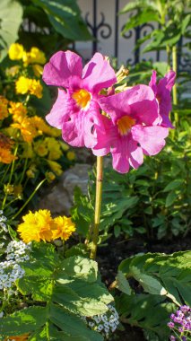
[[155,155],[164,147],[172,127],[170,91],[175,75],[169,71],[157,83],[153,71],[148,85],[115,93],[117,77],[106,57],[96,53],[82,68],[81,57],[59,51],[43,71],[44,82],[58,87],[47,121],[62,129],[68,144],[85,145],[98,156],[111,153],[113,168],[126,173],[130,166],[136,169],[143,163],[143,154]]

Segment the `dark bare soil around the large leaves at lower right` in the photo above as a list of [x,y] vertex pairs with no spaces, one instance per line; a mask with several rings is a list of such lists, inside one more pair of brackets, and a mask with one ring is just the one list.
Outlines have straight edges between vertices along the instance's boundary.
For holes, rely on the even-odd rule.
[[[123,259],[129,258],[137,253],[161,252],[174,253],[191,249],[191,236],[187,238],[177,238],[173,240],[125,240],[111,237],[108,245],[98,249],[97,261],[100,266],[102,281],[109,287],[117,275],[117,267]],[[141,328],[124,326],[125,331],[117,332],[119,341],[144,341]],[[116,333],[115,333],[116,334]]]

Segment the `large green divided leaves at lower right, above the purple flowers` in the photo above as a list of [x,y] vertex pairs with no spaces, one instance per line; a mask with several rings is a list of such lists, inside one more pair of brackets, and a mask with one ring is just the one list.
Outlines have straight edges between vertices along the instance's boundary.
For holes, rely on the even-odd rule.
[[[167,322],[170,312],[176,310],[175,304],[191,305],[190,265],[190,251],[172,255],[148,253],[123,260],[118,267],[116,285],[122,292],[116,298],[122,321],[146,329],[147,335],[155,335],[156,340],[167,341]],[[138,282],[139,293],[133,289],[124,291],[124,286],[121,286],[121,274],[130,280],[130,284],[132,278]]]

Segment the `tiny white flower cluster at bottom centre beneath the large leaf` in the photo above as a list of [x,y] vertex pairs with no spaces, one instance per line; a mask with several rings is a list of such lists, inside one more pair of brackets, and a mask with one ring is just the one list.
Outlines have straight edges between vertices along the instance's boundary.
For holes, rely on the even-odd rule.
[[105,314],[82,318],[91,329],[100,332],[107,338],[111,333],[114,333],[119,324],[117,310],[111,304],[108,305],[108,308],[109,310]]

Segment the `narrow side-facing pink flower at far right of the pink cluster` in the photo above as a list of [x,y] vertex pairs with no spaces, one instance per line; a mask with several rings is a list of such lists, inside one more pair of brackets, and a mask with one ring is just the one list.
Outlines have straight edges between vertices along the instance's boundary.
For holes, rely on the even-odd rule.
[[156,99],[159,102],[161,126],[173,128],[169,120],[169,112],[172,109],[170,92],[175,83],[176,73],[170,70],[168,74],[165,74],[164,78],[161,78],[158,84],[156,83],[156,76],[157,73],[153,70],[149,86],[151,86]]

